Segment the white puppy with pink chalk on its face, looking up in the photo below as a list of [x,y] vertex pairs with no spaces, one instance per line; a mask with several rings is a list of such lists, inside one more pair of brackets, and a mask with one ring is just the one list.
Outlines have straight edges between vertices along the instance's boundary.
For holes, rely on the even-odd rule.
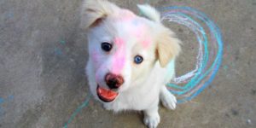
[[143,111],[148,128],[160,123],[159,102],[176,108],[166,88],[175,76],[181,41],[161,23],[160,13],[137,5],[143,16],[107,0],[85,0],[81,25],[88,32],[86,74],[90,92],[113,112]]

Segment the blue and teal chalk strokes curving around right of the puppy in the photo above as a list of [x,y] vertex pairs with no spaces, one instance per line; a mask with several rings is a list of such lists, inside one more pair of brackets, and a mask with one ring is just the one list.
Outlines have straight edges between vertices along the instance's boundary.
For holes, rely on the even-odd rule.
[[[179,99],[177,102],[182,103],[182,102],[188,102],[195,98],[195,96],[198,96],[202,90],[204,90],[209,84],[211,84],[212,80],[215,78],[216,74],[218,73],[218,68],[221,65],[222,62],[222,56],[223,56],[223,41],[222,41],[222,36],[221,32],[219,31],[218,26],[216,26],[212,20],[210,20],[207,15],[203,14],[202,12],[192,9],[190,7],[166,7],[160,9],[161,11],[170,11],[165,14],[163,14],[163,17],[166,15],[175,15],[176,17],[179,17],[181,20],[172,20],[178,24],[181,24],[183,26],[189,27],[193,32],[196,30],[193,29],[195,26],[199,27],[200,29],[198,30],[199,32],[195,32],[196,38],[199,42],[199,44],[204,45],[204,55],[203,55],[203,61],[200,65],[200,68],[198,71],[195,73],[195,76],[190,79],[188,84],[185,84],[184,86],[179,86],[177,84],[167,84],[169,87],[172,87],[173,89],[178,89],[178,90],[170,90],[173,94],[176,94],[177,96],[182,96],[186,93],[189,93],[191,90],[195,89],[197,85],[201,83],[202,80],[206,80],[206,77],[209,76],[209,79],[198,89],[196,90],[191,96],[183,97],[182,99]],[[189,15],[187,15],[185,12],[189,12],[189,15],[192,15],[202,22],[204,22],[211,34],[212,38],[216,38],[216,41],[218,43],[218,52],[216,55],[216,58],[214,59],[212,66],[207,69],[207,63],[208,63],[208,49],[207,49],[207,34],[204,31],[203,27],[193,20]],[[192,25],[192,26],[191,26]],[[198,33],[201,33],[202,35],[200,36]],[[202,37],[202,39],[201,39]],[[203,72],[206,71],[206,72]],[[211,74],[210,74],[211,73]]]

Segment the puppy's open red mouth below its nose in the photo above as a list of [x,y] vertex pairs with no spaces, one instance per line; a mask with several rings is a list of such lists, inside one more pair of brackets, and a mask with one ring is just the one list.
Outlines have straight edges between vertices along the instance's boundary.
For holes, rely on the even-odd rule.
[[96,92],[102,102],[112,102],[119,95],[118,92],[102,88],[99,85],[97,86]]

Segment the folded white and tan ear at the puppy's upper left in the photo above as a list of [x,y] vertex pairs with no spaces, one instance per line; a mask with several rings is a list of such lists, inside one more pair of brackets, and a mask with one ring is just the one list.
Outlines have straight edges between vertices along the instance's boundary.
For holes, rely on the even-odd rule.
[[89,28],[99,25],[108,15],[113,15],[119,9],[107,0],[84,0],[82,7],[82,28]]

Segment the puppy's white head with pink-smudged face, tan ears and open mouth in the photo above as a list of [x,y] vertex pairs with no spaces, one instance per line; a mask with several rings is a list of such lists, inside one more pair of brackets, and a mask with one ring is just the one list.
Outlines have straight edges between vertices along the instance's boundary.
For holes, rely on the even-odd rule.
[[96,80],[90,88],[103,102],[140,86],[156,62],[166,67],[180,51],[179,40],[160,23],[160,14],[148,5],[138,7],[147,18],[105,0],[84,2],[82,26],[88,30]]

